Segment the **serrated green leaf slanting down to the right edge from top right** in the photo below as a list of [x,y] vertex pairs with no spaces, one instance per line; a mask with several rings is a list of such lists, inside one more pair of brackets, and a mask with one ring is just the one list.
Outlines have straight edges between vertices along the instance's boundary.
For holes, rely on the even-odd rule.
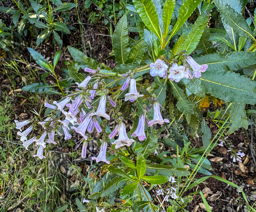
[[226,4],[225,1],[215,0],[215,5],[221,11],[221,18],[226,24],[229,24],[233,28],[234,32],[239,36],[246,37],[256,41],[253,36],[251,28],[248,26],[244,17],[236,12],[230,5]]

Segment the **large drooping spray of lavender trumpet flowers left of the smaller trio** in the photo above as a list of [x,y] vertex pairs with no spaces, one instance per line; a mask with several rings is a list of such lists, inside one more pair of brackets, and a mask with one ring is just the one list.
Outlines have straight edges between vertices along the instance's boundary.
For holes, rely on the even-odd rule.
[[[162,68],[166,68],[167,65],[162,64]],[[107,114],[107,107],[112,106],[114,109],[116,106],[115,98],[110,96],[108,89],[106,89],[106,83],[101,79],[101,74],[99,69],[97,71],[85,68],[87,72],[86,78],[82,82],[76,82],[77,86],[75,91],[73,91],[68,96],[62,98],[61,101],[53,101],[52,104],[45,103],[44,106],[52,109],[51,114],[41,122],[36,121],[23,121],[18,122],[17,129],[20,130],[18,135],[20,140],[23,142],[23,146],[30,146],[35,142],[35,147],[37,147],[37,154],[35,157],[40,159],[44,158],[44,148],[46,143],[57,144],[55,142],[54,136],[57,133],[62,136],[65,140],[72,138],[72,133],[76,132],[76,135],[80,136],[80,140],[77,142],[78,145],[75,150],[82,144],[81,157],[85,158],[87,153],[88,142],[92,140],[91,133],[96,131],[97,133],[102,133],[102,144],[97,157],[92,157],[92,160],[96,162],[110,163],[106,160],[106,150],[107,150],[107,137],[106,124],[107,121],[111,119],[110,114]],[[140,94],[136,87],[136,80],[133,77],[133,73],[122,74],[124,79],[126,78],[124,84],[120,88],[124,91],[129,88],[129,92],[124,95],[124,101],[134,102],[138,98],[143,98],[144,95]],[[163,124],[164,122],[169,123],[168,119],[163,119],[160,113],[160,105],[156,98],[153,98],[150,106],[154,108],[154,117],[150,121],[148,119],[147,113],[149,110],[145,110],[143,114],[140,115],[139,123],[137,129],[132,133],[132,137],[138,137],[140,141],[146,139],[145,134],[145,124],[148,127],[154,124]],[[149,108],[150,108],[149,106]],[[114,139],[118,135],[118,139],[115,139],[113,144],[115,148],[120,147],[130,147],[135,141],[127,136],[125,121],[115,110],[112,110],[113,118],[116,118],[117,124],[112,133],[108,135],[109,139]],[[118,115],[117,115],[118,114]],[[118,116],[118,117],[116,117]],[[22,131],[23,127],[27,124],[31,124],[26,130]],[[40,124],[42,126],[43,132],[37,136],[27,139],[29,133],[36,129],[35,126]]]

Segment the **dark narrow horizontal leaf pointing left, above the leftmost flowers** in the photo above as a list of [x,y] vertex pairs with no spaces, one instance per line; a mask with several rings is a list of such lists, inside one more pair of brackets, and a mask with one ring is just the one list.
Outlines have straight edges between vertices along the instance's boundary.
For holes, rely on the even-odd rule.
[[53,89],[55,85],[48,85],[44,82],[38,82],[30,85],[24,86],[21,90],[28,92],[38,92],[38,93],[47,93],[47,94],[59,94],[59,92]]

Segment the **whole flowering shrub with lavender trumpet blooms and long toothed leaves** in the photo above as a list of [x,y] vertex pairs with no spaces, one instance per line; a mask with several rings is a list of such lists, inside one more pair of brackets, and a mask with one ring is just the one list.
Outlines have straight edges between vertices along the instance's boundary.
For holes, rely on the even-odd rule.
[[[192,183],[195,174],[199,171],[211,175],[207,171],[211,165],[206,157],[218,140],[240,126],[248,126],[245,104],[256,102],[256,83],[230,70],[256,64],[253,59],[256,53],[250,51],[255,48],[256,40],[251,37],[250,28],[232,25],[223,13],[224,21],[238,35],[252,39],[254,47],[252,45],[247,52],[193,54],[207,30],[209,11],[204,10],[191,30],[183,33],[173,48],[169,48],[169,41],[201,0],[186,0],[179,8],[176,24],[172,27],[169,24],[175,0],[166,0],[163,9],[157,1],[133,0],[133,3],[138,14],[135,21],[141,40],[135,42],[129,38],[127,18],[123,16],[113,35],[117,64],[113,70],[69,47],[75,63],[69,64],[68,69],[76,86],[59,101],[45,103],[44,106],[50,108],[51,112],[44,121],[16,121],[20,130],[18,135],[24,147],[35,144],[37,154],[34,156],[40,159],[47,155],[44,153],[47,143],[56,144],[55,134],[65,140],[78,138],[76,149],[79,145],[82,147],[82,158],[87,157],[88,142],[98,139],[99,153],[91,159],[110,164],[108,171],[112,174],[103,190],[88,198],[105,197],[122,188],[120,198],[126,201],[125,207],[131,206],[134,211],[167,208],[169,212],[178,211],[192,201],[191,196],[184,196],[184,193],[199,184],[200,181]],[[243,22],[243,17],[230,5],[221,0],[216,0],[216,5],[218,8],[228,8],[227,11],[239,16]],[[247,34],[244,30],[248,31]],[[83,73],[78,72],[78,66],[84,70]],[[247,85],[246,88],[243,84]],[[207,98],[207,94],[221,98],[228,104],[213,139],[198,109],[200,101]],[[38,124],[42,126],[41,129]],[[199,124],[203,147],[188,151],[190,142],[184,134],[196,134],[200,131]],[[23,130],[27,125],[29,127]],[[38,135],[28,139],[31,131],[36,129]],[[97,138],[93,132],[98,133]],[[158,141],[176,148],[176,157],[152,155],[157,153]],[[110,154],[108,147],[116,152]],[[235,158],[241,161],[244,156],[242,152],[234,154],[231,156],[234,162]],[[112,163],[114,158],[118,159],[120,165]],[[164,196],[164,201],[169,204],[153,204],[144,181],[151,184],[151,188],[162,185],[162,188],[158,186],[156,196]],[[180,187],[181,182],[183,187]],[[131,201],[134,192],[137,197]]]

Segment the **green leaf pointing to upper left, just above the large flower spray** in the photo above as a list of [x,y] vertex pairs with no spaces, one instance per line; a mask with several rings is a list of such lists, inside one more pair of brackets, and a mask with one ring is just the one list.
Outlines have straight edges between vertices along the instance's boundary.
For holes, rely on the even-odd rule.
[[82,69],[85,69],[87,67],[97,70],[98,67],[102,66],[99,62],[90,57],[87,57],[83,52],[79,51],[78,49],[75,49],[71,46],[68,46],[68,49],[70,51],[71,56]]

